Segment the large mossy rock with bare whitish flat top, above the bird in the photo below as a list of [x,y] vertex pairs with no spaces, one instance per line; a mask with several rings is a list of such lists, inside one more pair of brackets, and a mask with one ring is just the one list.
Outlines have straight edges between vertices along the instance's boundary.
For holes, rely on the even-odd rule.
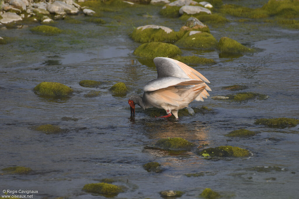
[[[153,27],[161,27],[161,28],[144,28],[138,27],[133,30],[130,34],[130,37],[136,41],[141,43],[152,42],[152,41],[161,41],[161,42],[175,42],[179,40],[180,34],[173,31],[170,28],[162,27],[162,26],[153,26]],[[163,30],[163,28],[165,30]]]

